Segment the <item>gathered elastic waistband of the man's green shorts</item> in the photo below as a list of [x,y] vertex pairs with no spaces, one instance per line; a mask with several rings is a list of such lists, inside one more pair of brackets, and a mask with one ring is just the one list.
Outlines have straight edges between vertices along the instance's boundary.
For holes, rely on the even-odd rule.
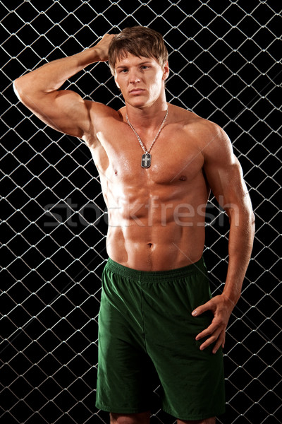
[[194,264],[181,266],[181,268],[176,269],[168,269],[167,271],[139,271],[137,269],[128,268],[128,266],[118,264],[118,262],[109,258],[106,262],[105,269],[113,271],[123,277],[133,278],[138,281],[167,281],[175,278],[183,278],[192,273],[207,273],[203,257]]

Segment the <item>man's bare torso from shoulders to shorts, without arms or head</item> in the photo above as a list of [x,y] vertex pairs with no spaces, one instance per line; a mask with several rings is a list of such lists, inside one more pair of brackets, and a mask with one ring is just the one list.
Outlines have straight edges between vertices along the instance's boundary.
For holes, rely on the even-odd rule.
[[[202,257],[209,187],[200,140],[204,119],[169,105],[168,120],[141,167],[142,148],[125,121],[125,110],[95,123],[88,141],[108,208],[107,252],[133,269],[157,271]],[[143,135],[143,137],[142,137]],[[140,137],[149,148],[152,134]]]

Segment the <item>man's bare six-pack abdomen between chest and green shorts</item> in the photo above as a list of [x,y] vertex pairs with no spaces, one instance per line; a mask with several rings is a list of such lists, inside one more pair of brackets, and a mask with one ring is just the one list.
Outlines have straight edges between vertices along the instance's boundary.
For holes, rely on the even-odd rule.
[[140,271],[164,271],[195,263],[204,249],[207,199],[201,198],[170,197],[166,202],[158,195],[142,202],[138,196],[138,202],[130,199],[108,207],[109,257]]

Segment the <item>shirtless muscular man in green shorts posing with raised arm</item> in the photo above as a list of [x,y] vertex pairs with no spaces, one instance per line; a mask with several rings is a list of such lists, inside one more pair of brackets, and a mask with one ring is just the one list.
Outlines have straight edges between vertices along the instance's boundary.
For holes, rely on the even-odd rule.
[[[108,59],[125,107],[59,90]],[[254,216],[231,142],[213,122],[166,102],[167,60],[159,33],[126,28],[14,83],[39,119],[87,143],[99,171],[109,260],[97,407],[113,424],[149,423],[153,377],[164,411],[178,423],[212,424],[223,413],[221,348],[252,250]],[[211,190],[230,220],[228,272],[214,298],[202,259]]]

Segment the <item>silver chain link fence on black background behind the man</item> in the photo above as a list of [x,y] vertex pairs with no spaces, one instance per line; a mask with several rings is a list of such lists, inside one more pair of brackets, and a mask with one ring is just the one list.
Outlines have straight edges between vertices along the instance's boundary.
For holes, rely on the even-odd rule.
[[[219,423],[281,423],[281,2],[9,0],[0,7],[1,423],[109,422],[94,407],[107,259],[99,177],[87,147],[34,117],[12,82],[133,25],[164,35],[168,101],[226,130],[255,209],[255,246],[224,349],[227,408]],[[89,66],[64,88],[123,105],[107,64]],[[217,294],[228,222],[213,197],[207,212],[204,258]],[[174,422],[152,411],[152,423]]]

